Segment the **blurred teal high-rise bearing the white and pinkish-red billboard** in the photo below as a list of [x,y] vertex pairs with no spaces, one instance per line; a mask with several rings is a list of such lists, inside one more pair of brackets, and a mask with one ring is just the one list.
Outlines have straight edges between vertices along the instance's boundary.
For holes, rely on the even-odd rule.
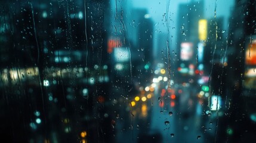
[[[199,20],[203,19],[203,1],[180,4],[177,21],[177,74],[178,82],[189,82],[197,63]],[[189,77],[189,78],[188,78]]]

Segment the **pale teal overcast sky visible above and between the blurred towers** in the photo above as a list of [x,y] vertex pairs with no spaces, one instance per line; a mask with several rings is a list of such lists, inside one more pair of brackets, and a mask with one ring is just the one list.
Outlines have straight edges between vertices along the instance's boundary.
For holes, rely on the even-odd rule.
[[[162,32],[166,33],[166,22],[163,15],[166,13],[166,5],[168,5],[169,2],[169,17],[171,20],[169,21],[169,38],[171,41],[171,49],[175,49],[176,41],[177,41],[177,20],[179,17],[177,17],[178,12],[178,5],[179,4],[189,4],[191,1],[201,1],[201,0],[132,0],[127,6],[133,7],[133,8],[147,8],[149,11],[149,14],[151,15],[151,18],[155,24],[154,29],[155,32]],[[204,0],[204,15],[203,18],[209,19],[214,17],[214,9],[215,9],[215,3],[216,3],[216,17],[224,17],[223,21],[223,29],[228,30],[227,26],[229,24],[229,17],[230,13],[232,12],[232,8],[234,6],[234,0]],[[180,17],[181,18],[181,17]],[[164,24],[163,24],[164,23]],[[154,41],[157,41],[157,33],[154,38]],[[154,45],[156,46],[157,42],[154,42]]]

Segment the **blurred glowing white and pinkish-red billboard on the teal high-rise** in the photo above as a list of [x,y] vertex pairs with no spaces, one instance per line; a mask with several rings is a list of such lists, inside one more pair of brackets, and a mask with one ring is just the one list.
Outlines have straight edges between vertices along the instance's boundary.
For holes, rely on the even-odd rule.
[[181,43],[180,59],[188,61],[193,57],[193,43],[183,42]]

